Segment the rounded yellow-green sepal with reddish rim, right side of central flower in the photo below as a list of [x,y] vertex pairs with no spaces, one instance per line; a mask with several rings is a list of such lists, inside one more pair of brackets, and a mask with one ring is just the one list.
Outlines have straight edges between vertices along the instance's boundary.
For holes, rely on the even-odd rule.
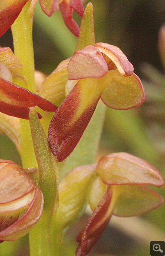
[[[118,70],[108,71],[109,81],[105,88],[101,99],[111,108],[114,109],[130,109],[140,106],[144,99],[145,93],[141,81],[134,73],[125,77]],[[105,78],[106,79],[106,78]]]

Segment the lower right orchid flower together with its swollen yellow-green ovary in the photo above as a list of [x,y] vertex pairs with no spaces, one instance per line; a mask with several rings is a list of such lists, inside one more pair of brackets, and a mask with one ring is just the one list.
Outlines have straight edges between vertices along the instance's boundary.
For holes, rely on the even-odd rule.
[[63,237],[82,216],[88,202],[93,213],[76,238],[76,256],[85,256],[112,215],[139,216],[163,203],[163,197],[148,185],[159,187],[164,180],[148,162],[124,152],[74,168],[59,184],[59,206],[54,219],[58,236]]

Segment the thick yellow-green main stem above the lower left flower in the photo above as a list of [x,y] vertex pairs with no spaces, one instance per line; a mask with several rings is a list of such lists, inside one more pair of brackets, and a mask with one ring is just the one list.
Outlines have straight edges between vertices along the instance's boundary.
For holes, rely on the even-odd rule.
[[[20,15],[12,25],[13,43],[15,55],[21,60],[24,67],[21,76],[25,77],[27,89],[36,92],[34,81],[34,57],[32,39],[32,17],[29,11],[31,0],[29,0]],[[24,87],[24,84],[19,84]],[[37,161],[33,150],[33,141],[29,122],[20,119],[20,155],[23,168],[37,167]]]

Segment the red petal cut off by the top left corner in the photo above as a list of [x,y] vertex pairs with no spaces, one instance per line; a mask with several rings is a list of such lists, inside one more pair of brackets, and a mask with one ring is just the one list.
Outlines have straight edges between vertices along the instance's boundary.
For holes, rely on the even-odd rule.
[[28,0],[0,1],[0,36],[13,24],[27,1]]

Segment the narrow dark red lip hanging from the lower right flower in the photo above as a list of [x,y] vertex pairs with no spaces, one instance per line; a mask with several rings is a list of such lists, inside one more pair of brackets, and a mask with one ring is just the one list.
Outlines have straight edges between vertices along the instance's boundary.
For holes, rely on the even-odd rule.
[[112,191],[108,187],[106,194],[76,238],[80,243],[76,250],[76,256],[87,255],[106,228],[113,213],[113,208],[110,207],[111,199]]

